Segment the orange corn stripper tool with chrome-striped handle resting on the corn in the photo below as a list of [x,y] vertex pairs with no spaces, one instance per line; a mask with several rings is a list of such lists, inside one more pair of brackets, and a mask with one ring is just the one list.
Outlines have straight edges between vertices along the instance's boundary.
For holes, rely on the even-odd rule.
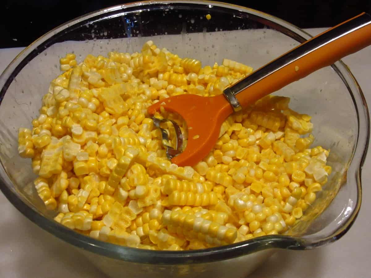
[[214,147],[221,124],[233,112],[299,80],[318,69],[371,44],[371,16],[361,13],[326,30],[266,64],[251,75],[213,97],[177,95],[150,107],[153,115],[163,106],[178,113],[188,126],[188,143],[171,158],[178,166],[193,166]]

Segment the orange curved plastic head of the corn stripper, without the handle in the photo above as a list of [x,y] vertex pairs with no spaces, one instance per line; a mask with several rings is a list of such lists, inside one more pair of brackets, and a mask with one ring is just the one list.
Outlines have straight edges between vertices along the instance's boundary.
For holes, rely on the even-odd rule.
[[233,112],[223,94],[213,97],[191,94],[168,97],[148,107],[148,113],[154,115],[161,106],[177,113],[187,123],[187,147],[171,159],[178,166],[193,166],[205,158],[218,139],[222,123]]

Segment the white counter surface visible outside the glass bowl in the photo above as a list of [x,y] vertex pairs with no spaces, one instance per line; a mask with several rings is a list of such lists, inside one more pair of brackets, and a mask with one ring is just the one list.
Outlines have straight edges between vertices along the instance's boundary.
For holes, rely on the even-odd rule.
[[[309,29],[317,34],[324,29]],[[0,49],[0,72],[22,48]],[[367,103],[371,103],[371,47],[343,61],[357,78]],[[307,251],[280,250],[249,278],[350,278],[371,277],[371,180],[370,153],[363,181],[361,211],[355,224],[335,243]],[[0,277],[4,278],[106,278],[87,259],[71,252],[69,244],[26,219],[0,193]],[[231,273],[231,277],[233,274]]]

